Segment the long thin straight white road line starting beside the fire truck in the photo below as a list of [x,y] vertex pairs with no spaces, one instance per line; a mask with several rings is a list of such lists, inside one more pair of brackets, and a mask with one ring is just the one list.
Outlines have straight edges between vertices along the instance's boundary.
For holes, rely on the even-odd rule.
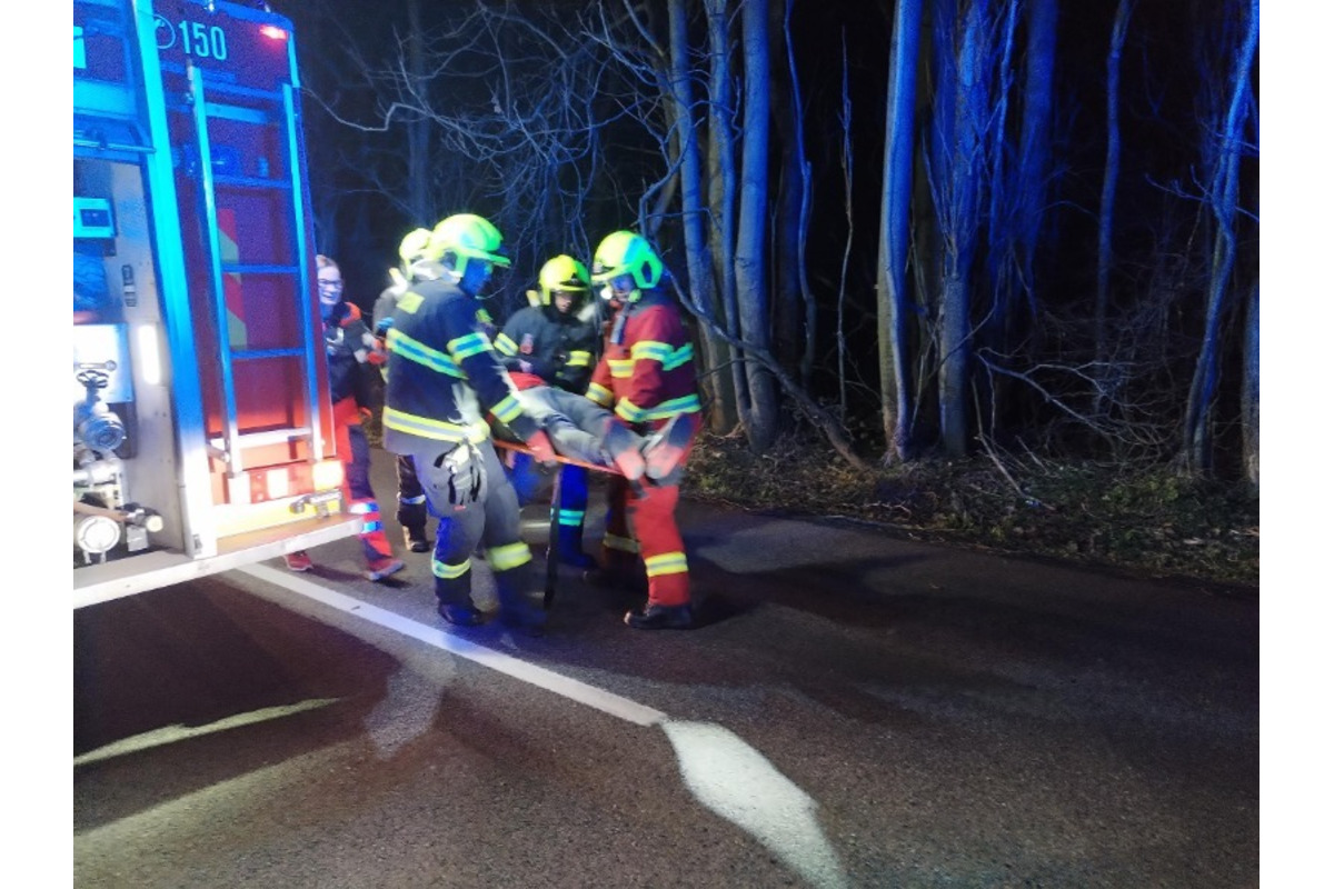
[[579,680],[548,670],[544,666],[528,664],[518,657],[511,657],[483,645],[476,645],[466,638],[447,633],[439,626],[427,626],[426,624],[403,617],[402,614],[396,614],[391,610],[368,605],[359,598],[335,592],[328,586],[304,577],[297,577],[291,572],[277,570],[275,568],[269,568],[268,565],[247,565],[235,570],[243,574],[249,574],[257,580],[263,580],[264,582],[281,586],[283,589],[296,593],[297,596],[305,596],[307,598],[312,598],[323,605],[328,605],[329,608],[347,612],[354,617],[378,624],[379,626],[450,652],[458,657],[488,666],[499,673],[504,673],[506,676],[512,676],[514,678],[528,682],[530,685],[547,689],[548,692],[554,692],[562,697],[570,698],[571,701],[602,710],[603,713],[608,713],[627,722],[650,726],[659,725],[667,720],[666,713],[655,710],[651,706],[644,706],[636,701],[631,701],[628,697],[614,694],[612,692],[588,685],[587,682],[580,682]]

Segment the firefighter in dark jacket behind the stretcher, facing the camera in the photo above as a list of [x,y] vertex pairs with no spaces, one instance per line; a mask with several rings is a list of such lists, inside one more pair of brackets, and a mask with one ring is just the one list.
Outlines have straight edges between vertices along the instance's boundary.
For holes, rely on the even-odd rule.
[[[539,291],[530,291],[530,300],[536,296],[536,301],[515,312],[495,343],[519,389],[546,384],[583,395],[588,388],[599,340],[590,285],[587,267],[572,256],[556,256],[542,267]],[[532,460],[518,454],[511,473],[520,501],[531,500],[538,486]],[[588,470],[562,466],[559,490],[556,557],[567,565],[594,568],[596,562],[583,552]]]

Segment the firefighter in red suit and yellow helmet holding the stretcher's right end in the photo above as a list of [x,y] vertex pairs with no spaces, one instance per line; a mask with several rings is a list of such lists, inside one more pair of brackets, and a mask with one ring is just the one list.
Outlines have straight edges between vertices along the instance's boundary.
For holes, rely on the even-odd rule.
[[670,421],[688,424],[690,429],[684,444],[668,445],[678,453],[660,456],[674,469],[656,484],[636,490],[611,478],[612,509],[603,546],[615,556],[616,544],[632,537],[648,577],[648,601],[624,617],[635,629],[695,625],[675,512],[686,457],[699,431],[700,403],[694,347],[680,311],[660,289],[664,275],[658,253],[635,232],[612,232],[594,253],[592,281],[606,285],[604,299],[619,311],[587,397],[611,408],[618,423],[642,435],[660,431]]

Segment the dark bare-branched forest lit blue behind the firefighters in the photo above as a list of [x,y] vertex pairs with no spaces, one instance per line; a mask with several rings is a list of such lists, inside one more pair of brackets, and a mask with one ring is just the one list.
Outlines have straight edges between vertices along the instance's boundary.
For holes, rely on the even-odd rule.
[[752,454],[1258,493],[1254,0],[271,5],[363,305],[450,213],[506,235],[499,317],[636,228]]

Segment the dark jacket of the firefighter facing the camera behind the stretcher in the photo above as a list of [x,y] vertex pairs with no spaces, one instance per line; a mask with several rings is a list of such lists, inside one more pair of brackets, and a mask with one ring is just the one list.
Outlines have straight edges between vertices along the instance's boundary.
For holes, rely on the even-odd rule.
[[[528,305],[510,316],[495,345],[511,373],[531,373],[548,385],[583,395],[592,377],[598,328],[575,313]],[[518,379],[515,384],[527,388]]]

